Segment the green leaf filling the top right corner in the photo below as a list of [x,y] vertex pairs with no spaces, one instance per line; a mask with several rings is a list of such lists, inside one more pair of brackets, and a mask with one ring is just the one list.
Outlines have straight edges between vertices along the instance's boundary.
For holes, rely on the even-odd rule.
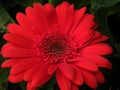
[[120,0],[91,0],[91,11],[94,13],[101,7],[110,7],[120,2]]

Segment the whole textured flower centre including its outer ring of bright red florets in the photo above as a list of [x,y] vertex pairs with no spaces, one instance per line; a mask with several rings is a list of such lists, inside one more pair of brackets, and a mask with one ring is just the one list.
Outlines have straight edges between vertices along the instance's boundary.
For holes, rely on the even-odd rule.
[[47,34],[36,39],[35,47],[38,56],[46,63],[69,62],[73,58],[73,44],[71,39],[60,34]]

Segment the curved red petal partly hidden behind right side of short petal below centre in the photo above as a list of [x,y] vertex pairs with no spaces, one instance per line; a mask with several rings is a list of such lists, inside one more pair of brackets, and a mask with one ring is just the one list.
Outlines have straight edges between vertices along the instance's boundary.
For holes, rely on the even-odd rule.
[[72,67],[74,68],[74,71],[75,71],[75,76],[74,76],[74,79],[72,80],[72,82],[76,85],[82,85],[83,84],[83,76],[82,76],[80,69],[78,67],[76,67],[75,65],[72,65]]

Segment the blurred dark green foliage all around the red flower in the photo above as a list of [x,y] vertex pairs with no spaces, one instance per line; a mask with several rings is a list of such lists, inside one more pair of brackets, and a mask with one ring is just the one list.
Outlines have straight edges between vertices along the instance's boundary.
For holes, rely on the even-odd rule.
[[[24,8],[27,6],[32,6],[34,2],[39,2],[41,4],[51,3],[54,6],[60,4],[65,0],[0,0],[0,48],[5,43],[5,40],[2,39],[4,33],[7,32],[6,25],[15,22],[15,15],[17,12],[21,11],[24,12]],[[113,46],[114,52],[108,58],[113,63],[113,69],[110,73],[105,73],[108,82],[104,85],[100,85],[97,90],[120,90],[117,87],[117,83],[114,82],[116,77],[119,75],[120,69],[120,40],[118,30],[120,30],[120,0],[67,0],[71,4],[75,5],[75,9],[81,8],[83,6],[88,7],[88,12],[93,13],[95,15],[95,20],[99,24],[98,30],[103,34],[109,36],[108,43]],[[111,21],[112,16],[117,15],[118,19],[118,28],[113,25],[113,21]],[[112,17],[114,18],[114,17]],[[111,26],[113,25],[113,26]],[[114,30],[117,29],[117,30]],[[112,33],[111,33],[112,32]],[[117,36],[118,35],[118,36]],[[5,59],[0,56],[0,64]],[[119,68],[119,69],[118,69]],[[1,69],[0,68],[0,90],[11,90],[8,87],[12,87],[12,83],[7,81],[8,78],[8,69]],[[115,74],[114,74],[115,73]],[[116,75],[116,73],[118,75]],[[117,78],[118,81],[120,78]],[[52,83],[51,83],[52,82]],[[116,83],[116,85],[114,85]],[[119,82],[120,83],[120,82]],[[25,90],[25,82],[21,82],[14,86],[17,89],[12,90]],[[19,86],[19,87],[18,87]],[[19,88],[19,89],[18,89]],[[81,90],[91,90],[87,86],[80,87]],[[86,89],[85,89],[86,88]],[[44,86],[40,87],[39,90],[58,90],[58,87],[55,82],[55,78],[53,77],[48,83]]]

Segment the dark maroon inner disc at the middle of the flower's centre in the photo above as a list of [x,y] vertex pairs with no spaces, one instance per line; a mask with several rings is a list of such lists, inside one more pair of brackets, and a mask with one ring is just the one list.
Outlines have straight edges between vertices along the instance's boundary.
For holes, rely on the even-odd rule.
[[54,56],[63,56],[68,48],[67,39],[59,34],[49,35],[42,41],[42,49],[45,54]]

